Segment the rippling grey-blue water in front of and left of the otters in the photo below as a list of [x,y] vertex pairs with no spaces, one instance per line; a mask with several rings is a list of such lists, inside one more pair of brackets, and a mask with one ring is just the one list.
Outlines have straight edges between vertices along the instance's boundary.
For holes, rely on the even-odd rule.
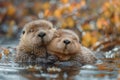
[[[1,41],[0,45],[0,54],[2,54],[0,80],[120,80],[119,64],[116,65],[115,63],[65,68],[47,65],[18,65],[13,61],[14,49],[18,41],[7,43],[4,41]],[[9,49],[9,55],[3,53],[3,47]]]

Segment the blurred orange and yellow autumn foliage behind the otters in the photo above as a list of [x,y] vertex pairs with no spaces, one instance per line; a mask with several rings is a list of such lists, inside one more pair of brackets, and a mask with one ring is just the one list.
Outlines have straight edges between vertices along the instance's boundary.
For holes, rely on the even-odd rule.
[[120,0],[0,0],[1,37],[16,38],[25,23],[36,19],[74,30],[93,50],[120,45]]

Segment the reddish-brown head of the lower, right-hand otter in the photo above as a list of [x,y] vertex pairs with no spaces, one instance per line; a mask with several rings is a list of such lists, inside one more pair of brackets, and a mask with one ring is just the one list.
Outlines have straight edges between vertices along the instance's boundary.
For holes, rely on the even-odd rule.
[[48,51],[63,55],[78,53],[79,49],[79,38],[71,30],[58,30],[48,45]]

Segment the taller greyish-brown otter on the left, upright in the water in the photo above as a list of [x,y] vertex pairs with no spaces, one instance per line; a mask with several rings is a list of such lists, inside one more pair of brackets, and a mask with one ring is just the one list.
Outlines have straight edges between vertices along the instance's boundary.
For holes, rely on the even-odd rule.
[[54,31],[49,21],[35,20],[27,23],[17,47],[16,61],[27,62],[36,57],[45,57],[45,47],[52,40]]

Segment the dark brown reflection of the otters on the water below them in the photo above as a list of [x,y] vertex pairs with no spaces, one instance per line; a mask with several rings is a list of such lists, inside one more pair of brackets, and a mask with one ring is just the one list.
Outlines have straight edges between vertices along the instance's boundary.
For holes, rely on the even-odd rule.
[[[23,76],[29,80],[79,80],[80,67],[64,67],[61,68],[60,72],[56,71],[38,71],[38,72],[28,72]],[[37,75],[37,76],[35,76]]]

